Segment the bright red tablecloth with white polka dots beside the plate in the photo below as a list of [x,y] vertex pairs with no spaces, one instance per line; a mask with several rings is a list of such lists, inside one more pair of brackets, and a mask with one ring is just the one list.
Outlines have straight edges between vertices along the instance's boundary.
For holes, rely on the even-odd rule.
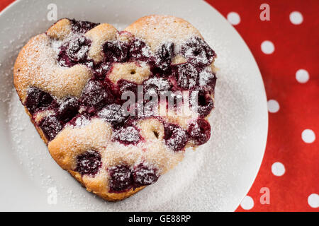
[[[318,211],[319,1],[206,1],[250,47],[268,98],[264,160],[237,211]],[[260,20],[264,3],[270,20]]]

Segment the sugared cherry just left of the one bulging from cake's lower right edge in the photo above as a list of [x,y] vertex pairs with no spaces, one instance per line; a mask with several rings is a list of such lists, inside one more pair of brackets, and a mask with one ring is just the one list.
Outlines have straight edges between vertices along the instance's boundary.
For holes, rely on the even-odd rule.
[[182,150],[187,141],[189,140],[188,135],[184,129],[175,124],[164,125],[164,140],[166,145],[174,150]]

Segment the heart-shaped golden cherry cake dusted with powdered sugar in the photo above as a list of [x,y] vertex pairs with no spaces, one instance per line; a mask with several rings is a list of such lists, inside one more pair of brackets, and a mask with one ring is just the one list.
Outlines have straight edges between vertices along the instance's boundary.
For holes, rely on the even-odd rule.
[[21,49],[14,85],[57,164],[118,201],[208,141],[215,58],[174,16],[145,16],[121,32],[63,18]]

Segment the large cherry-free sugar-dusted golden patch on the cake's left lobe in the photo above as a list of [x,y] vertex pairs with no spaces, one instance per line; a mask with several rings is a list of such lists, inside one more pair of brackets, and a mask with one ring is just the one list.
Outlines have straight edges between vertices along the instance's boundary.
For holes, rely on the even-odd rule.
[[[21,70],[21,73],[18,73],[19,76],[16,78],[23,92],[26,92],[26,87],[35,86],[56,97],[77,96],[81,93],[91,74],[82,67],[66,70],[59,66],[56,60],[58,44],[54,44],[55,49],[53,49],[50,39],[45,34],[30,40],[26,48],[27,53],[23,56],[26,64],[21,65],[21,68],[18,69]],[[77,85],[73,84],[75,79],[78,80]]]

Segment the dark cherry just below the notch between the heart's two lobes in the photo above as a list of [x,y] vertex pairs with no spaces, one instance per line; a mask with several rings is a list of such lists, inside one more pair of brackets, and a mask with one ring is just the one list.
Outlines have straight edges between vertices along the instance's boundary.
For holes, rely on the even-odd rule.
[[128,57],[128,46],[124,42],[106,42],[103,44],[105,61],[123,62]]

